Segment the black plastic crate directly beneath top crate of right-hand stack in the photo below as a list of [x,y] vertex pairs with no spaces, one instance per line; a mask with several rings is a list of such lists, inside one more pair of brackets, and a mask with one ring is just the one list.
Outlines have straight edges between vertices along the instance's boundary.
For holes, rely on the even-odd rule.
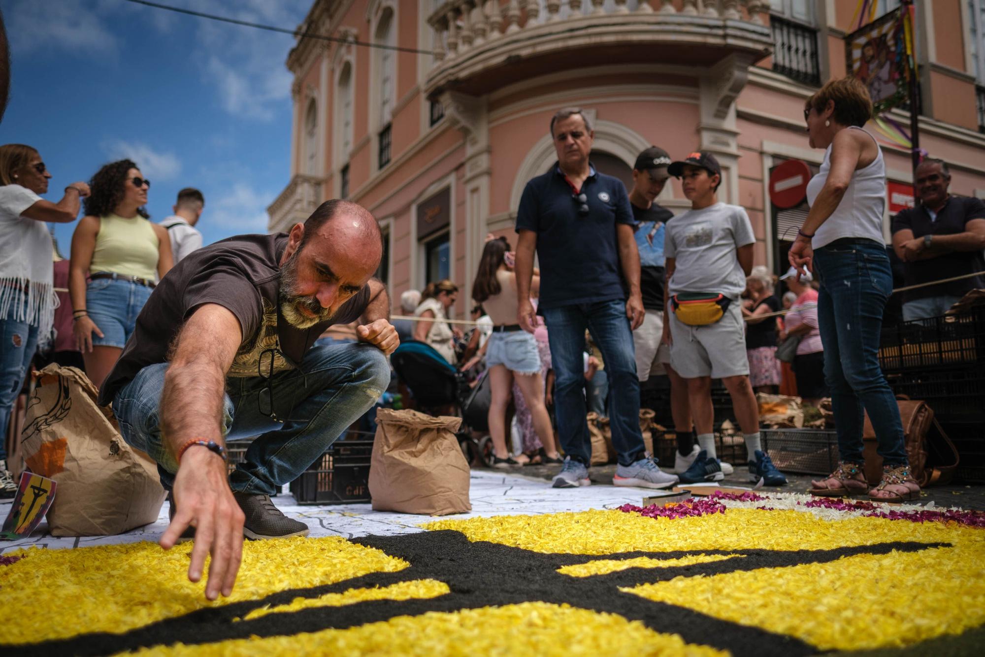
[[888,374],[897,395],[927,402],[940,423],[985,424],[985,366]]

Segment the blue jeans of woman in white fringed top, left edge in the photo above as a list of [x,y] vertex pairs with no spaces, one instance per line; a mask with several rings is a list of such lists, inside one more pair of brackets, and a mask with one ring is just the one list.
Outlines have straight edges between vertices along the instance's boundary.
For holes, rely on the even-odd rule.
[[7,458],[7,428],[14,402],[37,349],[37,326],[14,319],[27,311],[24,293],[11,299],[6,317],[0,318],[0,460]]

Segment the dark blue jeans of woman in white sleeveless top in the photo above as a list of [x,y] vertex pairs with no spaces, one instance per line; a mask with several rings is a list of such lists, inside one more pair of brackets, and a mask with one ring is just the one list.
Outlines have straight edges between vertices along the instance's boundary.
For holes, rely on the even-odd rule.
[[824,346],[824,380],[842,461],[862,463],[864,413],[876,431],[876,451],[886,465],[905,465],[899,407],[879,365],[886,300],[892,292],[889,258],[873,240],[835,243],[814,252],[820,276],[818,324]]

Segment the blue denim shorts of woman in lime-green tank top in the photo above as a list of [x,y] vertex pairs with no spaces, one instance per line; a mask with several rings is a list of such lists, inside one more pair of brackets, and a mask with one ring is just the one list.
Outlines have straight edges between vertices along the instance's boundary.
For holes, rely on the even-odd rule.
[[86,310],[102,331],[93,331],[93,345],[123,349],[137,325],[137,315],[153,291],[129,281],[97,279],[86,286]]

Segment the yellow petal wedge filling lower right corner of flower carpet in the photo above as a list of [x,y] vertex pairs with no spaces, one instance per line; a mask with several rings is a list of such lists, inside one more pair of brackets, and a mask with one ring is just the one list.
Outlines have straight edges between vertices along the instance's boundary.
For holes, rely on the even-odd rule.
[[983,557],[967,548],[894,552],[620,590],[824,650],[898,647],[985,623]]

